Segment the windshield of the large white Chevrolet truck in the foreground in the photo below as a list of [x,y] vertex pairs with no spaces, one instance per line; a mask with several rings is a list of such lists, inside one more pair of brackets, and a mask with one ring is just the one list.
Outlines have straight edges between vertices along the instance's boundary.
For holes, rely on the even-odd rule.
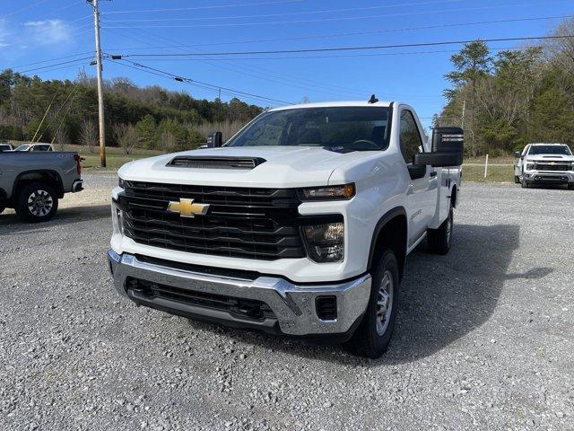
[[386,149],[390,108],[300,108],[267,112],[226,146],[322,146],[334,151]]

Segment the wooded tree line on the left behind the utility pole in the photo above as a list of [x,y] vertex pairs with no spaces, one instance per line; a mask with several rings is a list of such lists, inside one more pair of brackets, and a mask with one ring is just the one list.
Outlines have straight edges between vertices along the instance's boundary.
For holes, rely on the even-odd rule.
[[[141,88],[116,78],[104,84],[104,110],[107,145],[129,154],[133,147],[195,148],[216,124],[224,125],[230,137],[262,108],[237,98],[199,100],[187,92]],[[5,69],[0,73],[0,142],[6,140],[98,145],[95,79],[81,72],[74,81],[43,81]]]

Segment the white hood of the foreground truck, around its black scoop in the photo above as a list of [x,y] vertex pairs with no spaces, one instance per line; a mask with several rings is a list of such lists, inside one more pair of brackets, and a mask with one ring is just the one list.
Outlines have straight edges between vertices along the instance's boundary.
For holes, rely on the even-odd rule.
[[[244,146],[208,148],[165,154],[126,163],[118,175],[124,180],[201,184],[213,186],[288,188],[324,186],[331,173],[344,164],[378,152],[339,154],[321,147]],[[259,157],[254,169],[189,168],[168,166],[176,156]]]

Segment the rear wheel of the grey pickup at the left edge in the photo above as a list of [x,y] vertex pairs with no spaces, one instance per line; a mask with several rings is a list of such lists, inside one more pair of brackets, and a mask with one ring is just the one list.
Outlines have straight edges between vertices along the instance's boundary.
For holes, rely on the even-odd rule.
[[56,190],[45,182],[32,182],[20,190],[16,214],[23,222],[48,222],[57,212]]

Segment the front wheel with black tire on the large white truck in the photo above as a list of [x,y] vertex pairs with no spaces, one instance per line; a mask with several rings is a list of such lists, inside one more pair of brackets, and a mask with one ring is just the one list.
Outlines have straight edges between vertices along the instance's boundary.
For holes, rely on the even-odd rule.
[[376,359],[387,350],[395,329],[400,281],[395,253],[383,249],[371,269],[372,285],[367,310],[349,347],[358,356]]

